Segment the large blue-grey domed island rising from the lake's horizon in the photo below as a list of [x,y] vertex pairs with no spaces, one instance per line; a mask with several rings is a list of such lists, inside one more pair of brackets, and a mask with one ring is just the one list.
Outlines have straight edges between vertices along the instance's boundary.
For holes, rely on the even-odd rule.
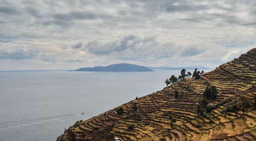
[[152,72],[154,70],[145,66],[134,65],[131,63],[117,63],[108,66],[94,66],[94,68],[79,68],[78,72]]

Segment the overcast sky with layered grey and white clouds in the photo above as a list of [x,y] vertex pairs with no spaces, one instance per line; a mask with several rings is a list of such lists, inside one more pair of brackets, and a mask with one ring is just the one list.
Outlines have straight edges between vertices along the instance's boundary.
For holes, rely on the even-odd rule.
[[215,68],[255,48],[256,1],[0,1],[0,70]]

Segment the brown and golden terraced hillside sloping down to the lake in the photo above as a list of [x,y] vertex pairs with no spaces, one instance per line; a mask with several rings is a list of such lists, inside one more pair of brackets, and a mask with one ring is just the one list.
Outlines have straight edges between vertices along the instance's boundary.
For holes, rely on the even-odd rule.
[[[256,140],[255,65],[256,48],[200,79],[179,80],[77,122],[57,140]],[[216,86],[217,100],[202,106],[207,85]]]

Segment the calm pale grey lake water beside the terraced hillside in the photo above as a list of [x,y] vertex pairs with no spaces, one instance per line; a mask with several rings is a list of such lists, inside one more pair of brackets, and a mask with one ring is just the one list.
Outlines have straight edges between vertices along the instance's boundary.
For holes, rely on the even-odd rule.
[[0,140],[54,141],[77,120],[161,90],[179,72],[2,71]]

